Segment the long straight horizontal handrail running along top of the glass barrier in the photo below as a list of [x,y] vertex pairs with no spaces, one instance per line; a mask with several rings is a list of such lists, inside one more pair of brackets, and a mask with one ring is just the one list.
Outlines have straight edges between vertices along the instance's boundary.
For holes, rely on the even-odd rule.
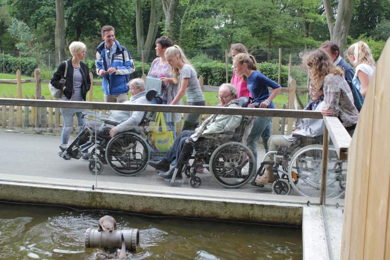
[[292,110],[292,109],[123,104],[123,103],[104,103],[104,102],[26,100],[26,99],[2,99],[2,98],[0,98],[0,105],[322,119],[322,114],[320,112],[306,111],[306,110]]

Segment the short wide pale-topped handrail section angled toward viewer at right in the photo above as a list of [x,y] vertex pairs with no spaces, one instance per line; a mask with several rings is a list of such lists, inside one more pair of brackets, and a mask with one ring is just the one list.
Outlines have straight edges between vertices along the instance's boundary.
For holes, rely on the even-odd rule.
[[336,117],[324,116],[324,122],[330,134],[334,149],[340,160],[347,160],[348,148],[351,145],[351,136]]

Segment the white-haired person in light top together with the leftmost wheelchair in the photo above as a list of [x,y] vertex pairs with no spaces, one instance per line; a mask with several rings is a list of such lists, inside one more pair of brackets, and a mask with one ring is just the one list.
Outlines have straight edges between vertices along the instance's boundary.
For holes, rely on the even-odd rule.
[[[128,85],[132,96],[124,104],[150,104],[155,99],[157,91],[146,92],[142,79],[131,80]],[[153,119],[147,114],[122,110],[111,110],[108,117],[96,114],[97,120],[87,122],[71,144],[60,145],[59,156],[65,160],[81,157],[89,160],[92,174],[100,174],[103,164],[109,164],[118,174],[136,175],[146,167],[149,158],[145,137],[148,120]],[[95,116],[95,113],[86,112],[86,115]],[[88,153],[91,147],[92,151]]]

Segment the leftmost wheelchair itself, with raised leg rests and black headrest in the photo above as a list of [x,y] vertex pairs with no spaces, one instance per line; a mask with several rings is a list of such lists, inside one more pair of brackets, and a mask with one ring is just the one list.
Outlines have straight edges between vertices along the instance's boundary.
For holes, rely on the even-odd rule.
[[[146,99],[161,103],[161,100],[156,98],[156,94],[156,90],[149,90]],[[86,112],[83,116],[95,117],[103,124],[99,123],[101,126],[95,133],[93,123],[87,123],[76,139],[63,152],[60,152],[59,156],[65,160],[80,159],[83,153],[88,153],[89,148],[92,148],[88,159],[88,169],[91,174],[100,174],[103,171],[103,165],[108,164],[120,175],[134,176],[145,169],[152,154],[164,155],[162,152],[155,151],[147,141],[148,125],[156,119],[156,112],[145,112],[136,128],[120,132],[113,138],[110,137],[109,132],[120,122],[92,112]]]

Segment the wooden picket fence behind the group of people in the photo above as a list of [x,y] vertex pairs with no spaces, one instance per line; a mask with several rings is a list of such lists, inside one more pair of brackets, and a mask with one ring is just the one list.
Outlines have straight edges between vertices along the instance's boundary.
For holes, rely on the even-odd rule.
[[[291,61],[291,56],[290,56]],[[290,62],[290,64],[292,64]],[[290,66],[291,67],[291,66]],[[291,75],[291,70],[289,70],[289,75]],[[94,99],[93,97],[93,87],[94,86],[101,86],[101,81],[94,81],[92,73],[89,75],[91,79],[91,89],[88,92],[88,99],[87,100],[94,100],[95,102],[100,102],[102,100],[98,100],[97,98]],[[142,78],[145,80],[146,75],[143,75]],[[20,71],[18,70],[16,72],[16,80],[0,80],[0,83],[5,84],[16,84],[17,85],[17,97],[14,97],[13,95],[10,95],[9,97],[6,97],[5,94],[2,94],[2,98],[18,98],[22,99],[22,84],[27,82],[35,82],[35,95],[32,95],[31,97],[28,97],[27,95],[24,96],[24,99],[40,99],[40,100],[46,100],[44,96],[41,95],[41,83],[48,84],[50,80],[42,80],[40,79],[40,70],[36,69],[34,73],[34,79],[21,79]],[[199,77],[199,84],[202,88],[202,91],[204,92],[218,92],[218,86],[209,86],[203,84],[203,77]],[[295,100],[299,104],[302,105],[302,102],[299,100],[299,97],[297,94],[307,93],[307,89],[297,89],[296,88],[296,82],[294,79],[292,79],[291,76],[289,76],[289,86],[288,88],[282,88],[281,93],[287,93],[288,94],[288,105],[283,105],[283,109],[296,109],[295,107]],[[53,98],[50,98],[53,100]],[[183,103],[184,105],[186,102]],[[207,102],[207,106],[215,106],[217,103],[211,104],[210,102]],[[276,107],[279,108],[279,107]],[[102,114],[106,113],[106,110],[98,111]],[[62,120],[59,108],[42,108],[42,107],[21,107],[21,106],[1,106],[1,120],[0,120],[0,127],[6,128],[6,129],[25,129],[25,130],[34,130],[37,133],[40,132],[59,132],[62,128]],[[204,120],[209,115],[201,115],[200,119]],[[8,120],[7,120],[8,118]],[[75,125],[77,126],[76,117],[74,118]],[[286,122],[286,118],[273,118],[273,128],[272,133],[273,134],[290,134],[292,131],[292,125],[293,125],[293,119],[288,118]],[[287,128],[286,128],[287,124]],[[176,124],[176,130],[179,134],[182,128],[182,121]]]

